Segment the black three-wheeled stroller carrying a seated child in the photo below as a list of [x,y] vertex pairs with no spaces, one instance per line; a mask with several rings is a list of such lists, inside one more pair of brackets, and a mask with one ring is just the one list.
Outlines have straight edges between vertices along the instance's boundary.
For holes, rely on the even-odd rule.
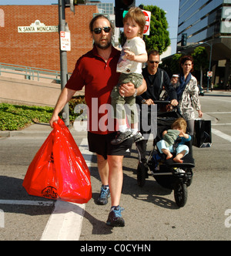
[[[159,101],[156,104],[169,104],[169,101]],[[166,108],[164,108],[166,109]],[[153,150],[149,154],[149,159],[146,163],[139,161],[137,168],[137,181],[139,187],[143,187],[146,183],[146,178],[154,177],[159,185],[170,190],[174,190],[174,197],[178,207],[184,207],[187,200],[187,187],[192,184],[192,168],[195,167],[194,159],[192,158],[192,141],[187,146],[189,154],[182,158],[183,163],[175,163],[172,159],[166,160],[166,155],[159,153],[156,143],[162,139],[164,130],[169,130],[172,123],[182,117],[177,109],[170,112],[157,113],[157,136],[153,142]],[[176,144],[174,147],[176,148]],[[174,154],[174,153],[173,153]]]

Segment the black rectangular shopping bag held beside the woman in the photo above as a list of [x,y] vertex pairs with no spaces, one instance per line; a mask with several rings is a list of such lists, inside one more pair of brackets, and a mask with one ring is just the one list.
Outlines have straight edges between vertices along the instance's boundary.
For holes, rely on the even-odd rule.
[[210,120],[195,120],[193,146],[212,147]]

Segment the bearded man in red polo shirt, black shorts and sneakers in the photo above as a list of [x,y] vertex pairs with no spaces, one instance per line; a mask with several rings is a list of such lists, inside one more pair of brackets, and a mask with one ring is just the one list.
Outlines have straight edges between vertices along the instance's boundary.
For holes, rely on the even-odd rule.
[[[126,140],[113,146],[115,138],[114,120],[110,114],[110,94],[118,83],[119,73],[116,72],[120,52],[112,46],[112,23],[104,15],[95,16],[89,25],[94,48],[82,56],[76,63],[69,82],[62,90],[58,103],[50,120],[50,125],[59,119],[59,113],[66,103],[72,99],[75,91],[85,86],[85,100],[89,107],[89,150],[97,154],[99,175],[102,189],[98,204],[107,204],[111,195],[112,208],[106,224],[123,227],[125,222],[121,216],[122,208],[119,201],[122,191],[122,160],[126,151],[132,147],[133,140]],[[123,85],[122,96],[138,95],[146,91],[146,83],[139,89],[132,84]]]

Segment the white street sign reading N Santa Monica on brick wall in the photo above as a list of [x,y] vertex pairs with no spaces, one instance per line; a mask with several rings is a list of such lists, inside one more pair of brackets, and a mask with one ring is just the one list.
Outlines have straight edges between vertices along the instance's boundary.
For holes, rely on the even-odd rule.
[[58,25],[45,25],[39,20],[32,23],[30,26],[18,27],[18,33],[35,33],[35,32],[59,32]]

